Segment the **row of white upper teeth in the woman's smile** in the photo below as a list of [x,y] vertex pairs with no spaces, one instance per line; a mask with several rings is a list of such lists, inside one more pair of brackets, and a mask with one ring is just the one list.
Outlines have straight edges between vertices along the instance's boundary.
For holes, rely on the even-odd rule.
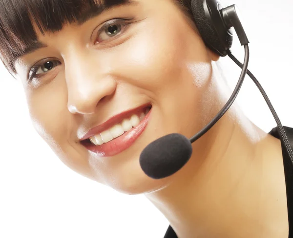
[[136,127],[145,117],[149,109],[146,109],[146,113],[142,112],[140,116],[133,114],[130,119],[124,119],[122,123],[116,124],[115,126],[101,132],[98,135],[90,137],[90,141],[96,146],[101,146],[118,136],[124,134],[124,132],[130,130],[132,127]]

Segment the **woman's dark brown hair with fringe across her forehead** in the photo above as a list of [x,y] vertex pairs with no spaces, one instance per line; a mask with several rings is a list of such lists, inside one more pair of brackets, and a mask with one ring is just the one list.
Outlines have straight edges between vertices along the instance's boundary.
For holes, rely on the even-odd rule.
[[[132,0],[0,0],[0,59],[10,73],[16,73],[15,60],[37,41],[33,24],[42,34],[60,31],[65,23],[80,19],[84,11],[92,14]],[[175,0],[191,17],[190,0]]]

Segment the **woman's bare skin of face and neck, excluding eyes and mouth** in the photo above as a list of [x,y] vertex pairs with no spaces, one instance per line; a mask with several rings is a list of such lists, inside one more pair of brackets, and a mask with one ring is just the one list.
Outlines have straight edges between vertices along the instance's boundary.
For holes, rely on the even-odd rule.
[[[58,33],[39,33],[48,46],[16,62],[34,127],[71,169],[122,193],[145,194],[179,238],[288,237],[280,141],[236,103],[192,144],[180,171],[153,180],[140,168],[146,145],[172,132],[190,138],[231,91],[217,69],[219,57],[171,0],[138,2]],[[134,18],[126,30],[112,38],[103,33],[94,44],[97,27],[126,17]],[[60,64],[27,83],[30,66],[45,58]],[[148,102],[146,130],[122,153],[98,157],[80,144],[90,128]]]

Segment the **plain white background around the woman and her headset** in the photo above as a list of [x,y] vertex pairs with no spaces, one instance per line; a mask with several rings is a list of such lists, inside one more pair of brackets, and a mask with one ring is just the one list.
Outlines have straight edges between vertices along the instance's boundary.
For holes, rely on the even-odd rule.
[[[267,92],[284,126],[293,127],[292,0],[236,3],[251,42],[249,69]],[[243,62],[234,37],[232,53]],[[221,58],[230,87],[240,68]],[[236,99],[258,127],[276,127],[249,77]],[[120,194],[63,165],[31,126],[21,85],[0,66],[0,237],[163,238],[168,221],[143,195]]]

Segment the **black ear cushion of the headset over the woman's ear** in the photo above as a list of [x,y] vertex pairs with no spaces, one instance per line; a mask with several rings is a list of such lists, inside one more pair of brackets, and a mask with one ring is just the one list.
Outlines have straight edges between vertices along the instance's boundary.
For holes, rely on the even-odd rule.
[[193,20],[205,44],[216,54],[226,56],[232,45],[232,36],[220,17],[217,4],[217,0],[190,2]]

